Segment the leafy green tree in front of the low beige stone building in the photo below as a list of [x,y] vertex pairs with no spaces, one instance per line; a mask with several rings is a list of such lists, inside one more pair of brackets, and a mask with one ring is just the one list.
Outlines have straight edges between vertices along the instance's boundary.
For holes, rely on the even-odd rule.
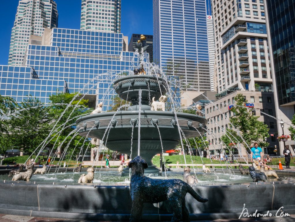
[[230,148],[230,143],[240,143],[247,148],[254,142],[257,142],[260,147],[267,147],[269,143],[263,138],[269,136],[269,129],[266,124],[258,120],[259,116],[253,115],[252,110],[245,107],[245,103],[247,100],[244,101],[242,94],[235,96],[235,105],[231,108],[234,116],[230,117],[230,123],[235,130],[228,128],[221,140],[228,148]]

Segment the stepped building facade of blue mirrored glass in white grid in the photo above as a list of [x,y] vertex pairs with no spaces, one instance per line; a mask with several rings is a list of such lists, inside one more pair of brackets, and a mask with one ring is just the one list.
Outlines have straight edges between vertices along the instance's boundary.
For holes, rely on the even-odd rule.
[[[92,95],[86,98],[93,103],[102,101],[106,111],[114,95],[113,80],[118,75],[133,73],[137,56],[123,51],[123,34],[54,28],[50,46],[28,45],[23,65],[26,67],[21,69],[6,66],[0,72],[1,81],[6,81],[2,77],[9,75],[19,82],[21,79],[30,82],[24,83],[24,92],[20,95],[36,96],[50,103],[49,95],[56,91],[79,92]],[[147,74],[148,68],[145,65]],[[13,80],[9,80],[9,84],[10,81]],[[16,96],[17,102],[21,102],[23,97],[18,97],[18,92],[12,94],[9,87],[2,86],[1,95]]]

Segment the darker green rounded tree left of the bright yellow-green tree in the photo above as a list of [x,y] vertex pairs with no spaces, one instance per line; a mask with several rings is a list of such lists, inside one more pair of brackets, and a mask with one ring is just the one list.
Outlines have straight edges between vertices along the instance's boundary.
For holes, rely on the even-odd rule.
[[39,99],[29,97],[21,102],[22,111],[9,120],[12,145],[22,152],[32,153],[48,136],[52,116]]

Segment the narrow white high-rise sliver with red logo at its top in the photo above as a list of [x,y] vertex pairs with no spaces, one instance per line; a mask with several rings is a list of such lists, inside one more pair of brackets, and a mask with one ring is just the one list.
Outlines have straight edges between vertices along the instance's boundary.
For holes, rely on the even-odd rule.
[[211,91],[214,91],[214,64],[215,64],[215,42],[212,15],[207,15],[207,32],[208,32],[208,49],[209,49],[209,64],[210,64],[210,82]]

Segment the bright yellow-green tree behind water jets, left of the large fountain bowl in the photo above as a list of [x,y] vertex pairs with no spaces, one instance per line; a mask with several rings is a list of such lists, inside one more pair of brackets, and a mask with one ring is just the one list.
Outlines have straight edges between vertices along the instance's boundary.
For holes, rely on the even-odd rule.
[[[53,145],[55,144],[55,147],[53,148],[57,150],[60,146],[60,154],[62,154],[65,148],[68,146],[67,157],[70,157],[72,154],[79,154],[80,149],[83,146],[83,153],[80,153],[80,155],[84,155],[84,153],[86,152],[86,148],[90,143],[90,140],[85,141],[87,140],[85,137],[76,135],[75,133],[71,134],[71,132],[75,130],[76,127],[70,127],[70,125],[76,123],[78,116],[90,113],[92,111],[92,109],[88,108],[88,100],[80,98],[80,95],[77,95],[77,93],[56,93],[55,95],[51,95],[49,97],[49,100],[52,102],[49,113],[53,116],[55,122],[58,121],[58,119],[64,112],[55,127],[55,129],[57,129],[58,127],[63,125],[63,127],[59,128],[59,130],[63,128],[63,131],[59,135],[57,134],[57,132],[54,132],[51,135],[51,138],[53,137],[53,139],[51,140],[49,147],[53,147]],[[64,140],[65,142],[62,143]],[[94,147],[94,145],[90,145],[89,150],[92,147]]]

